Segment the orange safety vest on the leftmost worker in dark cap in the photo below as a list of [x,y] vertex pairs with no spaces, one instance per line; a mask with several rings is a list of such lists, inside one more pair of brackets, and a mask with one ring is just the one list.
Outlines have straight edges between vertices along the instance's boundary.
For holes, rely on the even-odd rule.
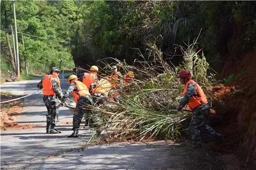
[[58,86],[60,87],[60,81],[58,77],[55,77],[53,75],[46,75],[44,78],[42,78],[42,94],[43,95],[54,95],[54,90],[52,87],[52,79],[57,79]]

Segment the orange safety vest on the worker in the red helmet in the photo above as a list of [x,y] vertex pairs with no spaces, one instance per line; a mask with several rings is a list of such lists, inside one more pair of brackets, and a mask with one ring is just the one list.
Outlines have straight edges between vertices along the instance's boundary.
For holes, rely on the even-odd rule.
[[198,106],[201,106],[202,104],[207,103],[206,95],[204,94],[202,88],[193,80],[189,80],[185,84],[185,88],[183,90],[183,94],[187,92],[187,87],[189,83],[193,83],[197,87],[197,93],[192,96],[192,98],[188,101],[188,107],[192,110],[195,109]]

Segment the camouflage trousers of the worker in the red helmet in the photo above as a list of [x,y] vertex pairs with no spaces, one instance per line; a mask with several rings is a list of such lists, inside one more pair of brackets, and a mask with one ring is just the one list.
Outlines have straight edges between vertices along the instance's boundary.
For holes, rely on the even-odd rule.
[[201,105],[193,110],[193,116],[190,120],[189,132],[195,147],[202,145],[202,135],[207,134],[211,137],[220,135],[214,129],[206,125],[209,116],[209,104]]

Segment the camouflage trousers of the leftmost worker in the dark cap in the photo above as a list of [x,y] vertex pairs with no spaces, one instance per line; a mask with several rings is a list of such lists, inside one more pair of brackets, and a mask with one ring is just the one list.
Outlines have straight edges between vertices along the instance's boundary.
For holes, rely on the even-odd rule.
[[46,129],[54,129],[57,121],[56,116],[59,113],[60,101],[54,95],[44,95],[43,101],[47,108]]

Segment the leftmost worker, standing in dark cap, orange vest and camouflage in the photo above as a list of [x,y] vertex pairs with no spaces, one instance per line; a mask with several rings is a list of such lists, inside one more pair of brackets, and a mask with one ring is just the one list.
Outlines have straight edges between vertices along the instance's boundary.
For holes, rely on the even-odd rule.
[[44,76],[37,84],[37,87],[42,90],[44,95],[43,101],[47,108],[46,115],[46,133],[61,133],[55,129],[56,115],[58,115],[60,100],[63,97],[60,81],[58,78],[60,70],[57,67],[52,67],[50,75]]

